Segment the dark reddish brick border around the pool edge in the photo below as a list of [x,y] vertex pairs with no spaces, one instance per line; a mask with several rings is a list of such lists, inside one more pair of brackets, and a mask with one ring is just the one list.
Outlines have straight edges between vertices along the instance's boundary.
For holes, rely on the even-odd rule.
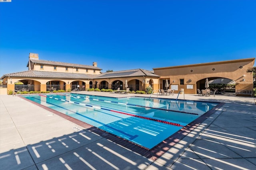
[[[202,123],[210,115],[212,115],[214,112],[218,111],[218,109],[224,105],[224,103],[219,103],[217,106],[213,107],[210,111],[204,113],[203,115],[201,115],[200,117],[198,117],[197,119],[195,119],[194,121],[192,121],[191,123],[189,123],[188,125],[183,127],[182,129],[180,129],[179,131],[177,131],[176,133],[174,133],[170,137],[166,138],[164,141],[162,141],[161,143],[159,143],[158,145],[156,145],[152,149],[148,149],[146,147],[142,147],[142,146],[140,146],[136,143],[133,143],[131,141],[128,141],[126,139],[123,139],[123,138],[118,137],[116,135],[113,135],[111,133],[108,133],[108,132],[106,132],[102,129],[94,127],[94,126],[92,126],[88,123],[85,123],[83,121],[80,121],[78,119],[70,117],[68,115],[65,115],[64,113],[61,113],[61,112],[56,111],[54,109],[51,109],[49,107],[46,107],[46,106],[43,106],[43,105],[38,104],[36,102],[33,102],[33,101],[31,101],[27,98],[24,98],[22,96],[19,96],[19,97],[28,101],[28,102],[31,102],[31,103],[37,105],[37,106],[40,106],[40,107],[42,107],[42,108],[44,108],[44,109],[46,109],[46,110],[48,110],[52,113],[64,118],[64,119],[67,119],[68,121],[71,121],[71,122],[83,127],[86,130],[92,131],[92,132],[94,132],[94,133],[96,133],[96,134],[114,142],[114,143],[117,143],[118,145],[121,145],[123,147],[126,147],[127,149],[132,150],[133,152],[141,154],[142,156],[145,156],[146,158],[149,158],[151,160],[156,160],[157,158],[159,158],[167,150],[169,150],[176,143],[178,143],[184,137],[186,137],[186,135],[188,135],[188,133],[190,133],[191,131],[196,129],[196,127],[198,127],[200,125],[200,123]],[[203,101],[194,101],[194,102],[203,102]],[[214,103],[216,103],[216,102],[214,102]]]

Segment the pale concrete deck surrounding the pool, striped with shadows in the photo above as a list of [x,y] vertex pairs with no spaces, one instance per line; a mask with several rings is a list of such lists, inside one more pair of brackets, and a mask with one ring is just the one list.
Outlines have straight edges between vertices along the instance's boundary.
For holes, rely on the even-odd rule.
[[[100,96],[147,96],[80,92]],[[158,98],[177,98],[157,96]],[[192,94],[179,99],[222,102],[186,137],[147,158],[18,96],[0,95],[0,169],[235,170],[256,169],[256,104],[252,97]]]

